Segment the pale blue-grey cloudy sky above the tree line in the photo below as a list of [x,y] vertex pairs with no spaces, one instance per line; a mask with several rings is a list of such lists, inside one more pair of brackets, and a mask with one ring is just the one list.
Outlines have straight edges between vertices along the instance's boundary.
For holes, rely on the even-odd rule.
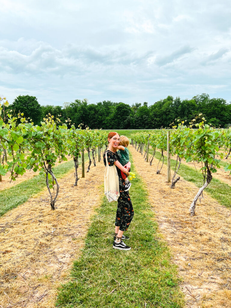
[[230,0],[0,0],[0,94],[231,101]]

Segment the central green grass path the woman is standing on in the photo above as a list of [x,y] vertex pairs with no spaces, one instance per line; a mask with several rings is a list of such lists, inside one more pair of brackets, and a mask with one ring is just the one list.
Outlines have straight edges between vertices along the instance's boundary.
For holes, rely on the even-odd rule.
[[[133,170],[133,167],[132,167]],[[134,171],[136,172],[136,171]],[[56,306],[82,308],[180,308],[177,267],[158,239],[157,223],[140,176],[130,189],[134,218],[126,235],[130,251],[112,248],[117,203],[103,197],[92,219],[82,256],[74,262],[71,281],[59,290]]]

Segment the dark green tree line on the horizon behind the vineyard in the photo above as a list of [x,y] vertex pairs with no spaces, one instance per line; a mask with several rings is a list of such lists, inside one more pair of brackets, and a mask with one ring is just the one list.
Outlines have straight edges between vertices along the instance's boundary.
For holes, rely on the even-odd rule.
[[35,96],[19,95],[9,108],[15,114],[23,112],[35,125],[39,125],[48,113],[55,117],[61,114],[63,123],[70,119],[76,128],[83,123],[91,129],[155,129],[169,127],[178,118],[191,121],[199,113],[214,127],[226,128],[231,124],[231,104],[222,98],[210,98],[205,93],[192,99],[174,99],[169,95],[150,106],[147,102],[130,106],[110,100],[93,104],[87,99],[75,99],[63,106],[41,106]]

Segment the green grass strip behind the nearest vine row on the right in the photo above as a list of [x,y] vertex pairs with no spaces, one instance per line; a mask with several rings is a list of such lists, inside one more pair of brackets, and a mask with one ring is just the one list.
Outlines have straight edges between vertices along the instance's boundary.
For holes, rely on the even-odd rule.
[[[149,154],[152,154],[152,150],[149,150]],[[155,158],[160,159],[161,153],[156,151]],[[164,157],[164,164],[167,164],[167,157]],[[159,165],[161,167],[162,163]],[[171,158],[171,169],[175,170],[176,160]],[[199,169],[197,169],[199,170]],[[154,170],[156,172],[156,170]],[[177,172],[179,176],[182,176],[184,180],[194,183],[197,187],[201,187],[204,184],[204,179],[201,171],[196,171],[195,168],[188,167],[185,164],[180,164],[180,169]],[[212,174],[213,175],[213,174]],[[173,176],[173,173],[172,173]],[[179,185],[176,183],[176,185]],[[205,191],[209,193],[211,197],[216,199],[220,204],[225,205],[227,207],[231,207],[231,186],[222,182],[215,177],[213,177],[212,181],[205,188]],[[192,196],[192,201],[195,196]]]

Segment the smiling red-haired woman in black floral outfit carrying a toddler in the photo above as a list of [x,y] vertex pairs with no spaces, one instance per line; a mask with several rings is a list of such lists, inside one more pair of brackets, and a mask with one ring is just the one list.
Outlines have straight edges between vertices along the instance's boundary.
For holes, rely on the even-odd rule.
[[130,199],[128,191],[124,191],[125,182],[121,175],[121,171],[129,176],[129,172],[124,166],[120,164],[120,157],[116,152],[117,146],[120,143],[120,135],[116,132],[110,132],[107,136],[108,149],[103,155],[103,162],[106,166],[106,155],[108,165],[115,164],[117,173],[119,176],[120,197],[118,198],[118,207],[115,218],[115,236],[114,236],[114,249],[130,250],[131,247],[127,246],[122,240],[129,239],[123,235],[124,231],[128,230],[128,227],[134,216],[132,207],[132,201]]

